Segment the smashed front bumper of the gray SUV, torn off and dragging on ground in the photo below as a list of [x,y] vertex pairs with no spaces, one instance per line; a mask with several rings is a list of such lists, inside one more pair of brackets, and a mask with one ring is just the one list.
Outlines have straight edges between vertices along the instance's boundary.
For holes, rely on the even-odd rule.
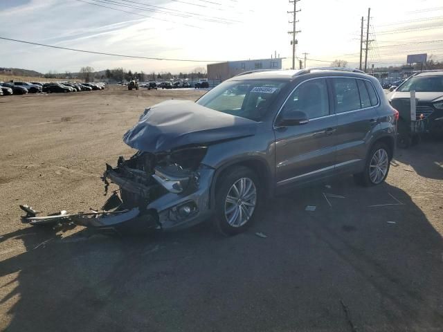
[[[146,185],[146,181],[140,181],[145,173],[130,169],[121,162],[119,164],[116,168],[107,165],[102,180],[105,190],[108,180],[118,185],[120,190],[114,191],[100,210],[76,214],[62,210],[37,216],[39,212],[30,206],[20,205],[21,210],[26,212],[21,221],[30,225],[73,224],[102,229],[137,224],[156,230],[179,230],[210,216],[210,184],[214,169],[202,165],[198,172],[186,177],[168,174],[159,167],[151,175],[155,180],[153,184]],[[186,189],[183,189],[184,185]],[[125,201],[127,196],[136,199],[128,203]]]

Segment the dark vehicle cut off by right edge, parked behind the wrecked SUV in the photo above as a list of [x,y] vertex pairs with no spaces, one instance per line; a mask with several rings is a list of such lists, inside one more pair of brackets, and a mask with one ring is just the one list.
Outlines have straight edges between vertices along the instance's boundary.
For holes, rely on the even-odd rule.
[[400,112],[399,125],[410,122],[410,91],[415,91],[416,120],[426,120],[426,131],[443,136],[443,71],[417,73],[389,95],[392,107]]

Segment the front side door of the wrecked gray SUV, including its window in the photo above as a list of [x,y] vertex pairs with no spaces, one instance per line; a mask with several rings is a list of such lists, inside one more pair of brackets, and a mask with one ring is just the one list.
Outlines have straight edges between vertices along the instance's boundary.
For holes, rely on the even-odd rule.
[[[336,116],[324,77],[306,80],[292,91],[275,120],[275,180],[277,187],[305,183],[334,173]],[[303,111],[309,121],[279,126],[291,110]]]

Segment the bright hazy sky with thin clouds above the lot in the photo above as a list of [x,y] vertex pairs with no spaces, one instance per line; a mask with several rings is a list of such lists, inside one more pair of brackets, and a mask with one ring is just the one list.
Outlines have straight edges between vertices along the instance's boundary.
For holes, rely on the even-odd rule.
[[[443,60],[442,0],[300,0],[296,56],[307,66],[344,59],[359,66],[361,17],[370,12],[368,66],[404,64],[407,54]],[[111,9],[114,8],[114,9]],[[0,67],[78,72],[192,71],[276,51],[291,66],[289,1],[274,0],[0,0],[0,37],[39,44],[167,59],[78,53],[0,39]],[[407,45],[404,45],[407,44]],[[363,56],[364,59],[364,56]]]

